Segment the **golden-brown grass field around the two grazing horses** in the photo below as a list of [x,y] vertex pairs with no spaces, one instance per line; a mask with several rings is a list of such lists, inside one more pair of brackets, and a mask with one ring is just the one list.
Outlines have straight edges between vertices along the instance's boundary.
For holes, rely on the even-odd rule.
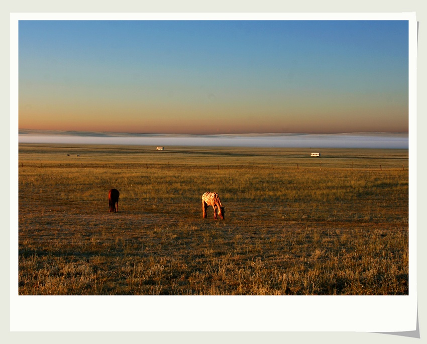
[[19,293],[407,295],[408,151],[21,144]]

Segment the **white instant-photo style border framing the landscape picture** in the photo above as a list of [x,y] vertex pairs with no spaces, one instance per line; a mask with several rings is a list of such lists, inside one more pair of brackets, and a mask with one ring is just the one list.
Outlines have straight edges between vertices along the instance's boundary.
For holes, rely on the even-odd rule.
[[[407,20],[409,295],[23,296],[18,294],[18,23],[20,20]],[[415,13],[13,13],[10,15],[11,331],[413,331],[416,326]]]

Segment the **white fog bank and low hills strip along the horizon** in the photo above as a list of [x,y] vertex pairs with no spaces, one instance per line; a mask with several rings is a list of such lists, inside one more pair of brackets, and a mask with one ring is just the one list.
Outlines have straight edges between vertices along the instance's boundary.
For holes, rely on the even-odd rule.
[[19,143],[408,149],[407,133],[182,135],[20,130]]

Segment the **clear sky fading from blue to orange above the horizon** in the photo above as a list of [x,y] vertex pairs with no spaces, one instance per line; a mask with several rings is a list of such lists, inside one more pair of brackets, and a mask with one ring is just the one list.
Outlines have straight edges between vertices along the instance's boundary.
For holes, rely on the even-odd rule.
[[20,21],[19,128],[408,132],[408,22]]

